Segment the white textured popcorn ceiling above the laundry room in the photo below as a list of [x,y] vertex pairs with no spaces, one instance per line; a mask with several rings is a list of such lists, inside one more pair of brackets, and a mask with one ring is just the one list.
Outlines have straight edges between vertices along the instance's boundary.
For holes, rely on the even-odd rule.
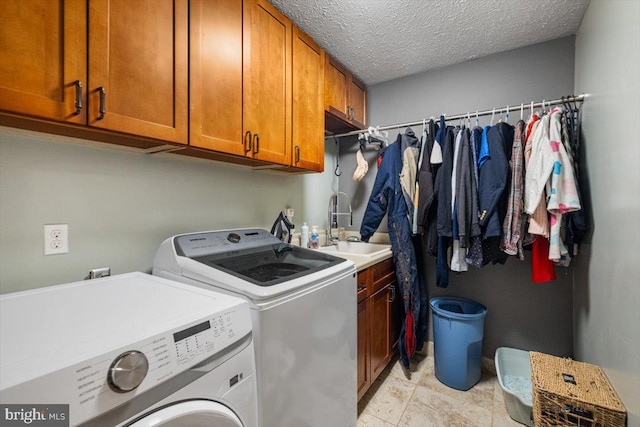
[[589,0],[271,0],[367,86],[575,34]]

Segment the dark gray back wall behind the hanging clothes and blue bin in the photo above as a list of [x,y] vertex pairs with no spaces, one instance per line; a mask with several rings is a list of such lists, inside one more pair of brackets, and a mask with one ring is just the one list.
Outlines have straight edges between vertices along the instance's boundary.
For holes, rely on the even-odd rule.
[[[369,123],[406,123],[441,113],[517,105],[518,111],[511,111],[509,120],[515,123],[520,117],[520,103],[557,99],[573,92],[574,43],[574,37],[562,38],[370,87]],[[525,117],[527,114],[525,110]],[[481,118],[480,124],[489,120]],[[421,132],[421,126],[414,130]],[[390,133],[392,140],[397,132]],[[367,151],[370,172],[362,182],[355,183],[352,173],[356,149],[352,141],[341,141],[344,174],[340,189],[352,196],[357,230],[375,179],[377,154],[372,149]],[[386,219],[381,229],[386,230]],[[425,263],[429,298],[456,295],[488,307],[483,344],[486,356],[493,356],[500,346],[573,355],[571,267],[557,268],[555,282],[534,285],[530,257],[524,262],[512,258],[505,266],[471,267],[467,273],[451,273],[449,287],[440,289],[435,286],[435,260],[427,257]]]

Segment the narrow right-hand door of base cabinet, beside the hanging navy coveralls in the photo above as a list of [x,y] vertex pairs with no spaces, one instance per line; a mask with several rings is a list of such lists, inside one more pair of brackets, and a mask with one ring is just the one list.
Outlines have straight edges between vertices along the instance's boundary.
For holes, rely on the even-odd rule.
[[369,298],[369,319],[371,335],[371,378],[376,378],[391,359],[389,344],[389,286]]

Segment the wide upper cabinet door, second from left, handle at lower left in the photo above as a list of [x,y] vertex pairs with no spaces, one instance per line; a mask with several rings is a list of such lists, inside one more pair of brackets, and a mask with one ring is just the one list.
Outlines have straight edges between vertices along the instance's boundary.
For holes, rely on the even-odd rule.
[[91,126],[187,142],[187,15],[187,0],[89,2]]

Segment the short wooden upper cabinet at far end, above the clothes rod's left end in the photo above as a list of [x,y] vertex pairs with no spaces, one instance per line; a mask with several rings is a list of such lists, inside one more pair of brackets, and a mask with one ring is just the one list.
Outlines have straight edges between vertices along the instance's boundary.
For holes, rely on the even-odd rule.
[[334,58],[326,55],[324,71],[325,128],[343,132],[366,127],[366,87]]

